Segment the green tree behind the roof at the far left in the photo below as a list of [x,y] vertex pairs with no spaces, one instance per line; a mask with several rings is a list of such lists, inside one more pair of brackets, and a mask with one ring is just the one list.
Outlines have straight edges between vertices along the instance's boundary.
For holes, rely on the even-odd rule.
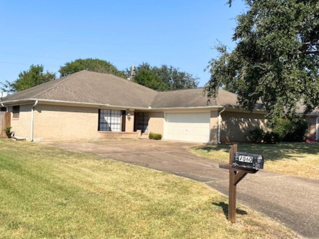
[[52,81],[56,78],[55,73],[43,73],[43,65],[31,65],[29,70],[20,72],[18,79],[13,82],[5,81],[1,90],[6,92],[23,91],[33,86]]

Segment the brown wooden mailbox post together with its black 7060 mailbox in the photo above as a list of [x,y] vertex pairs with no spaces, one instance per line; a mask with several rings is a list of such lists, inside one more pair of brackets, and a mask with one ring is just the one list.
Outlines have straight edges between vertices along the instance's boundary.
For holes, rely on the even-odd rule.
[[[239,155],[240,162],[243,165],[234,167],[234,154]],[[244,154],[244,155],[240,155]],[[259,160],[257,164],[257,158]],[[253,162],[254,161],[254,162]],[[254,166],[250,166],[253,165]],[[228,188],[228,220],[231,223],[236,222],[236,186],[248,174],[256,173],[262,169],[264,165],[264,158],[262,155],[248,154],[237,152],[237,144],[233,144],[229,152],[229,164],[220,163],[219,167],[229,170],[229,188]]]

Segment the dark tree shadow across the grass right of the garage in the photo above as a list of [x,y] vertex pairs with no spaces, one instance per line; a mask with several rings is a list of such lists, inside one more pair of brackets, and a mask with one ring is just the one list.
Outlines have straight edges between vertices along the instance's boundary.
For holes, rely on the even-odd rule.
[[[200,147],[202,150],[213,152],[222,150],[226,153],[229,152],[231,144],[219,145],[205,145]],[[302,158],[301,154],[319,154],[318,143],[306,142],[282,142],[277,144],[264,144],[264,143],[239,143],[238,151],[262,154],[265,161],[275,161],[283,158],[296,160]]]

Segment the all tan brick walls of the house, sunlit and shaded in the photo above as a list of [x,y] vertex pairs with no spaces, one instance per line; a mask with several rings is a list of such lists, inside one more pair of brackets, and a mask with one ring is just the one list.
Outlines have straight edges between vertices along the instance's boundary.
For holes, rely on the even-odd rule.
[[[16,136],[30,139],[32,105],[20,106],[18,119],[12,118],[12,131]],[[11,111],[12,109],[8,109]],[[53,106],[38,104],[34,111],[34,140],[43,139],[96,139],[96,138],[138,138],[134,130],[134,112],[126,116],[126,132],[98,131],[98,109],[88,107]],[[309,133],[314,134],[316,118],[311,119]],[[266,129],[267,120],[263,114],[223,112],[221,122],[222,142],[243,142],[249,130],[255,127]],[[149,112],[149,132],[163,135],[164,113]],[[217,143],[218,112],[210,112],[210,142]]]

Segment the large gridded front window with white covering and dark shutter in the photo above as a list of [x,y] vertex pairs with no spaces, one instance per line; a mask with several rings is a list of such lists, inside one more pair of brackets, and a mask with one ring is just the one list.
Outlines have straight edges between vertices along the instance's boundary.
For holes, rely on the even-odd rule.
[[[124,113],[125,114],[125,113]],[[122,131],[121,119],[123,112],[114,110],[99,110],[99,131]]]

